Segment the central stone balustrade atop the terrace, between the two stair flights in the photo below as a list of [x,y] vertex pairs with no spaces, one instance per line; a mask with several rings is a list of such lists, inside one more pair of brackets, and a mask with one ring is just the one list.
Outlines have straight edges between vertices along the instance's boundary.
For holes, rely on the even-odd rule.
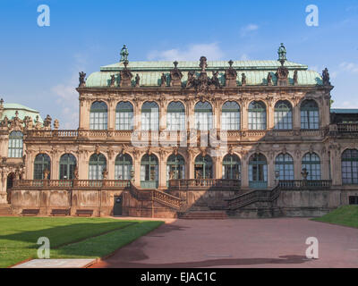
[[240,180],[183,179],[169,180],[170,189],[240,189]]

